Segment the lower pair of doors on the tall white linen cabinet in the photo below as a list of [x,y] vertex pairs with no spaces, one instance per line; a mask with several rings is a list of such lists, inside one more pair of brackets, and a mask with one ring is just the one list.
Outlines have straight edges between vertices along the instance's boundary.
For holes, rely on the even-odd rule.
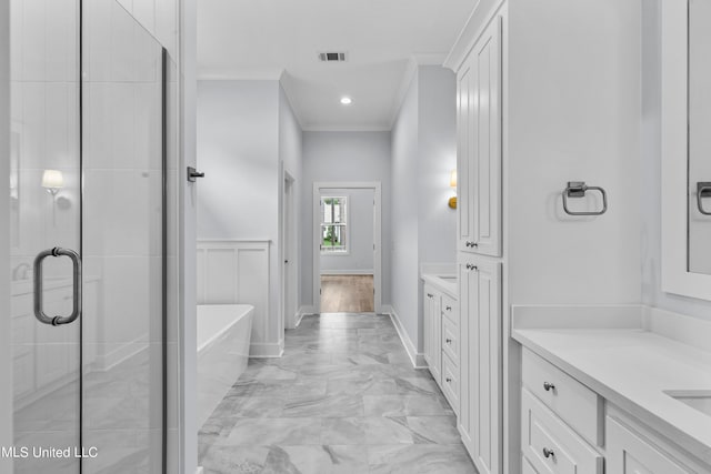
[[501,263],[460,264],[460,433],[480,473],[502,466]]

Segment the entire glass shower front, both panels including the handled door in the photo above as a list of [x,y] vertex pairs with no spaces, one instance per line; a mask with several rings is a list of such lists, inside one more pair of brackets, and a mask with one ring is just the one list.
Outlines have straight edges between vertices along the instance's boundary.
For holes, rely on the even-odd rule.
[[116,0],[11,14],[14,473],[161,473],[167,58]]

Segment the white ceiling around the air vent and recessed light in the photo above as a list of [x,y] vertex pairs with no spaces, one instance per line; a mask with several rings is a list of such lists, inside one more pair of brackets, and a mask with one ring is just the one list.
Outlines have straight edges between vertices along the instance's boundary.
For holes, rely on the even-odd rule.
[[[441,64],[478,0],[200,0],[200,79],[277,79],[307,130],[389,130],[412,67]],[[347,51],[323,63],[321,51]],[[340,104],[349,95],[353,103]]]

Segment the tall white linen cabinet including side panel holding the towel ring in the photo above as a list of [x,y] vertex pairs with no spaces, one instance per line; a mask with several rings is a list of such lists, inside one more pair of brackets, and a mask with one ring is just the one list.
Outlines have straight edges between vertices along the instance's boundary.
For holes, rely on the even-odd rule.
[[[511,307],[640,301],[641,2],[480,0],[444,65],[458,78],[458,427],[481,474],[515,474]],[[570,181],[604,188],[607,212],[565,213]]]

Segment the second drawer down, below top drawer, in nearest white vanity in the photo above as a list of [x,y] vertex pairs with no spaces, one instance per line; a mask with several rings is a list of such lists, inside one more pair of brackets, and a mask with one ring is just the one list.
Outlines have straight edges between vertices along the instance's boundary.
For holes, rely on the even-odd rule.
[[602,474],[602,455],[525,389],[521,405],[521,450],[534,472]]

